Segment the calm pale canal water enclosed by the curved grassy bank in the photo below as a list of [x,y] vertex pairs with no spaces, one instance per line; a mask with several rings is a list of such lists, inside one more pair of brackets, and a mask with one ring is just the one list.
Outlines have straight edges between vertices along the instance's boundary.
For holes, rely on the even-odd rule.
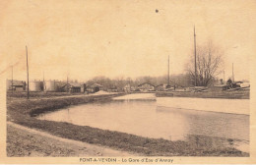
[[[136,99],[134,99],[136,98]],[[214,105],[213,105],[214,106]],[[127,95],[45,113],[40,120],[68,122],[147,138],[228,141],[249,152],[249,115],[158,106],[153,95]],[[231,142],[230,142],[231,141]]]

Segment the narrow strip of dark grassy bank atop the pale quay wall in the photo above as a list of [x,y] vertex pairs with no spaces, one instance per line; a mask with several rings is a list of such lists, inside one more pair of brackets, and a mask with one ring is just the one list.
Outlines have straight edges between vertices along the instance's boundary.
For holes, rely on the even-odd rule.
[[229,99],[249,99],[249,90],[237,91],[207,91],[207,92],[175,92],[159,91],[158,97],[197,97],[197,98],[229,98]]

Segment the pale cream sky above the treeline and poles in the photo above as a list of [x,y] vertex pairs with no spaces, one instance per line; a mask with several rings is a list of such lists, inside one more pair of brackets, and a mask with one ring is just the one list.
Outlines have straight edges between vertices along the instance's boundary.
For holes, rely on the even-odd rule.
[[[87,81],[184,74],[197,44],[224,50],[225,79],[249,80],[256,1],[19,0],[0,2],[0,74]],[[158,12],[156,12],[158,10]],[[254,23],[254,24],[253,24]],[[223,78],[223,75],[219,76]]]

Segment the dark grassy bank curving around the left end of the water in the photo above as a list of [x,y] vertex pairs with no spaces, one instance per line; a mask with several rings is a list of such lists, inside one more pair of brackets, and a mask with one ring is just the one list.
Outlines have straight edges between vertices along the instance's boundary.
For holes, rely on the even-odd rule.
[[[146,156],[249,156],[249,153],[241,152],[235,148],[221,145],[217,147],[205,146],[204,140],[201,143],[199,141],[199,143],[194,144],[193,142],[181,140],[171,141],[162,138],[143,138],[88,126],[77,126],[65,122],[41,121],[33,118],[33,116],[40,113],[56,111],[70,105],[107,101],[112,97],[120,95],[123,94],[89,95],[83,97],[13,102],[7,100],[7,120],[60,138],[80,140]],[[218,138],[212,138],[212,140],[218,140]]]

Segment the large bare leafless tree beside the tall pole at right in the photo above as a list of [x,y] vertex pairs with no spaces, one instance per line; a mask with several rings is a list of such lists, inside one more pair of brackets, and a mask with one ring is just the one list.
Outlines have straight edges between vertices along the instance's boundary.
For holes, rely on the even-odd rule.
[[190,62],[187,64],[187,73],[191,79],[191,83],[207,86],[212,83],[215,78],[223,71],[223,51],[220,47],[209,42],[204,46],[197,46],[197,75],[195,76],[194,56],[191,56]]

